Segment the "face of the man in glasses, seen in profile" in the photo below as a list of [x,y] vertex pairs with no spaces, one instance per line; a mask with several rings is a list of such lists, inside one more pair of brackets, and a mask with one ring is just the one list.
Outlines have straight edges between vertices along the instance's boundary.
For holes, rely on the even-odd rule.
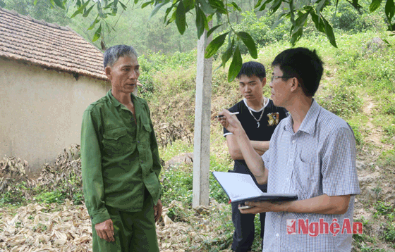
[[274,79],[269,84],[269,87],[272,89],[270,99],[273,100],[274,106],[285,107],[288,101],[289,85],[287,82],[292,79],[280,78],[279,76],[284,76],[284,73],[280,70],[279,66],[273,68],[273,76]]

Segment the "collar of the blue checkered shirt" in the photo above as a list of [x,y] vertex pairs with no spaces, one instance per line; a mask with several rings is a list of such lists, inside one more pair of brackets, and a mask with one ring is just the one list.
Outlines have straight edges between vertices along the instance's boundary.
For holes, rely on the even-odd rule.
[[[306,114],[305,118],[303,119],[302,124],[299,127],[298,131],[303,131],[308,134],[314,134],[315,132],[315,122],[317,121],[318,114],[320,114],[320,105],[318,105],[315,99],[312,99],[312,104]],[[288,116],[288,122],[284,125],[284,130],[293,133],[293,120],[292,115]]]

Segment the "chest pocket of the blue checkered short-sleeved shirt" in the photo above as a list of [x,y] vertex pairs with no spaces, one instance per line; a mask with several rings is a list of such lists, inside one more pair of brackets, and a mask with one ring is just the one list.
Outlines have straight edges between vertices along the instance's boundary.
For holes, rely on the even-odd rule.
[[293,186],[298,192],[299,199],[310,199],[318,196],[320,190],[320,164],[306,163],[297,160],[296,169],[293,170]]

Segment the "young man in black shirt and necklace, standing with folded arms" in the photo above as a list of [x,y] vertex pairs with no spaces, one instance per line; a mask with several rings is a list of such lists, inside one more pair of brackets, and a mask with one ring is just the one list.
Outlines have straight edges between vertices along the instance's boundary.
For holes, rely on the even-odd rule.
[[[238,120],[241,122],[245,133],[247,133],[253,148],[262,156],[269,149],[270,137],[272,137],[279,121],[286,118],[287,111],[284,108],[274,106],[272,100],[263,96],[263,87],[266,84],[266,71],[261,63],[254,61],[243,63],[237,79],[244,99],[229,108],[229,111],[239,113],[236,115]],[[258,184],[248,169],[241,154],[243,146],[238,146],[233,134],[225,128],[224,137],[226,137],[231,158],[235,161],[232,172],[251,175],[257,187],[266,192],[267,184]],[[265,230],[265,216],[266,213],[260,213],[261,238],[263,238]],[[240,210],[238,210],[238,204],[232,203],[232,220],[235,227],[232,243],[233,251],[247,252],[251,250],[255,234],[254,218],[254,214],[241,214]]]

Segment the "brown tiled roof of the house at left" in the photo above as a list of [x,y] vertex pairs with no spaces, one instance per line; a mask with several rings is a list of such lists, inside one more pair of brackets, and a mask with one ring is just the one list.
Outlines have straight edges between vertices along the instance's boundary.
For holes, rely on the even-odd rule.
[[69,27],[0,8],[0,57],[107,80],[103,53]]

